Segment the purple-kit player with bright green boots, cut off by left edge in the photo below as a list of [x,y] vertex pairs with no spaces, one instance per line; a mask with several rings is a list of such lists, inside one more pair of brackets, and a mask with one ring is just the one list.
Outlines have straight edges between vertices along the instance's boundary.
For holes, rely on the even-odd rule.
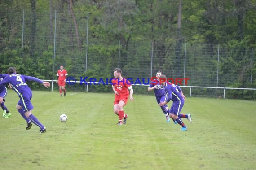
[[[1,70],[0,70],[1,73]],[[0,74],[0,82],[7,76],[8,74]],[[11,116],[11,113],[9,113],[9,110],[7,107],[4,105],[4,98],[7,95],[7,88],[5,84],[0,86],[0,105],[1,108],[3,109],[3,117],[4,118],[9,118]]]

